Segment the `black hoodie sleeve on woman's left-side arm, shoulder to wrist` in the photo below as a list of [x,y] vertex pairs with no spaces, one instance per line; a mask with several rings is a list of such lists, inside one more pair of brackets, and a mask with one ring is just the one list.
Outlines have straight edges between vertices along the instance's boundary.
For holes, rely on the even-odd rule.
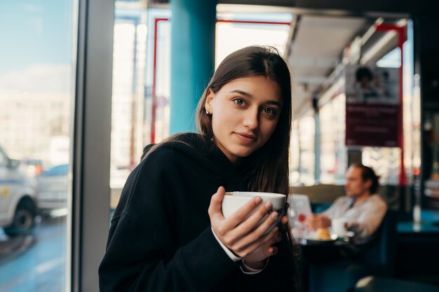
[[215,291],[239,268],[210,226],[176,246],[173,190],[181,182],[174,163],[169,149],[155,151],[128,178],[99,269],[100,291]]

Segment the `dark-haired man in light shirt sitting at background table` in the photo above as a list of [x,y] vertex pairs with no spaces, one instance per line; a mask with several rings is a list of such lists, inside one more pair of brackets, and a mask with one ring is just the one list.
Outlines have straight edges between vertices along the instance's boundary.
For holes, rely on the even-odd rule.
[[377,194],[378,176],[370,167],[353,164],[346,172],[346,195],[338,197],[331,207],[306,218],[311,230],[328,228],[331,219],[346,218],[346,229],[355,233],[353,242],[363,244],[377,230],[387,211],[387,204]]

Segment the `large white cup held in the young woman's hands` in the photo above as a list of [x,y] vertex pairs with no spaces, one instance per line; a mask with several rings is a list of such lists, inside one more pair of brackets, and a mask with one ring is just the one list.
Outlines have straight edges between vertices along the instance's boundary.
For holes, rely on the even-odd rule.
[[[268,230],[266,230],[265,234],[269,232],[274,226],[276,226],[281,220],[281,215],[284,212],[285,200],[287,198],[286,195],[278,194],[278,193],[262,193],[262,192],[228,192],[224,196],[222,200],[222,214],[224,218],[228,218],[231,214],[234,214],[239,208],[243,207],[247,202],[252,200],[253,197],[261,197],[263,202],[271,202],[273,207],[271,207],[272,211],[277,211],[280,216],[278,216],[277,220],[270,226]],[[256,211],[257,208],[254,210]],[[268,216],[268,214],[266,215]],[[262,220],[257,224],[262,223],[266,216],[262,218]]]

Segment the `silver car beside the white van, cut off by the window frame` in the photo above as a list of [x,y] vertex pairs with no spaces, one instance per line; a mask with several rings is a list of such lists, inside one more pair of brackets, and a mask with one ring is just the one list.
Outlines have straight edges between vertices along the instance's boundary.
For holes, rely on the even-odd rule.
[[44,213],[67,207],[69,165],[56,165],[36,176],[36,204]]

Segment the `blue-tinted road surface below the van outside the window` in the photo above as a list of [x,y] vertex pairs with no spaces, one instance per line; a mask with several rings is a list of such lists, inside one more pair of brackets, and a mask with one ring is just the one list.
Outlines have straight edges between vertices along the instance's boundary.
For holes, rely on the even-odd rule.
[[66,216],[43,217],[30,235],[8,237],[0,228],[0,291],[65,290]]

